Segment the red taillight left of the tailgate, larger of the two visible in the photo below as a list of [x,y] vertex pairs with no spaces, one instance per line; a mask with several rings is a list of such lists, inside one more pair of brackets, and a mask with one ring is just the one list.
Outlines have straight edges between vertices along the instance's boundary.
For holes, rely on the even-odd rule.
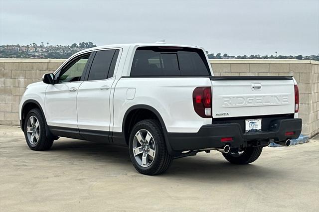
[[211,117],[211,87],[197,87],[193,91],[195,112],[203,118]]

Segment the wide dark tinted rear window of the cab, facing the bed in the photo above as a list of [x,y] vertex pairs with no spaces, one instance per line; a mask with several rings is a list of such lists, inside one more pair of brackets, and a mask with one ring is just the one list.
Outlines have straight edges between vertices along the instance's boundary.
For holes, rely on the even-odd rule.
[[131,76],[210,76],[205,54],[182,47],[139,47]]

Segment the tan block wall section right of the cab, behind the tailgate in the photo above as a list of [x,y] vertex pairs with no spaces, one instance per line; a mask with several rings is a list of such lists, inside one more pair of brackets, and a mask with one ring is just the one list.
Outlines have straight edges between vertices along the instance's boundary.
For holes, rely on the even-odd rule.
[[215,76],[294,76],[303,133],[319,133],[319,62],[313,60],[210,60]]

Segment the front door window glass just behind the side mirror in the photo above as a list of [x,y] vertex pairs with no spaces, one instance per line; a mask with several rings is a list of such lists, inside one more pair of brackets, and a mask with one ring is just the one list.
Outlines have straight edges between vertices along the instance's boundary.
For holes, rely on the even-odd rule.
[[89,57],[90,54],[83,55],[67,64],[58,77],[58,83],[80,81]]

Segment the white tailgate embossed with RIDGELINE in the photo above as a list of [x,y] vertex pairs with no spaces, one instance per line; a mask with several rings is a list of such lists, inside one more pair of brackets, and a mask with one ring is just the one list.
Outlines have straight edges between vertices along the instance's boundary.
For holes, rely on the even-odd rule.
[[294,113],[292,77],[211,77],[212,116]]

